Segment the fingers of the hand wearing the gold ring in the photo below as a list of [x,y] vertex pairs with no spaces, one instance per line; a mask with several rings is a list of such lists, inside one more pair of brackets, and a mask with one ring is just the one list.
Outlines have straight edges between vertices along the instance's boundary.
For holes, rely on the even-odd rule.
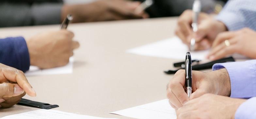
[[223,58],[227,55],[231,55],[236,52],[236,39],[229,40],[230,46],[226,46],[224,42],[222,42],[220,45],[216,46],[208,55],[207,58],[210,60],[217,60],[220,58]]

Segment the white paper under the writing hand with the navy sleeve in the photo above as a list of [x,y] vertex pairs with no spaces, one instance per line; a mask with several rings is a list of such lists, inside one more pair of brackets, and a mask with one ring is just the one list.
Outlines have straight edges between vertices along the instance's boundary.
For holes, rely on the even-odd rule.
[[50,69],[39,69],[37,66],[30,66],[29,70],[25,73],[26,76],[37,76],[37,75],[52,75],[52,74],[71,74],[73,72],[74,58],[70,57],[69,63],[65,66],[50,68]]

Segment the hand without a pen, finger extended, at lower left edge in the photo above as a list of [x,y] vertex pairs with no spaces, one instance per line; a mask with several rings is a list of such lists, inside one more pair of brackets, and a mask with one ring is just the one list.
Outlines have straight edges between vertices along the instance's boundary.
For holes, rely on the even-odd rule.
[[36,96],[35,90],[28,83],[24,73],[0,64],[0,108],[17,104],[26,93],[32,97]]

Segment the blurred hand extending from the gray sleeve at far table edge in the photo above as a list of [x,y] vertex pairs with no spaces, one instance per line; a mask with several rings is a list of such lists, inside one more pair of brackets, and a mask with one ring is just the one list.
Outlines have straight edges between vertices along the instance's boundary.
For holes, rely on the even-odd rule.
[[90,4],[64,5],[61,20],[63,21],[67,14],[72,14],[72,22],[75,23],[148,18],[148,14],[144,12],[135,12],[139,5],[140,2],[128,0],[99,0]]

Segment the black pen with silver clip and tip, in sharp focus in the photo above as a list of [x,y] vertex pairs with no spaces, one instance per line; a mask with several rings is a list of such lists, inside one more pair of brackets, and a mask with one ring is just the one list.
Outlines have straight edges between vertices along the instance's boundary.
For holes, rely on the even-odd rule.
[[186,53],[185,58],[185,85],[186,85],[186,92],[188,98],[190,98],[192,93],[192,62],[191,62],[191,55],[189,52]]

